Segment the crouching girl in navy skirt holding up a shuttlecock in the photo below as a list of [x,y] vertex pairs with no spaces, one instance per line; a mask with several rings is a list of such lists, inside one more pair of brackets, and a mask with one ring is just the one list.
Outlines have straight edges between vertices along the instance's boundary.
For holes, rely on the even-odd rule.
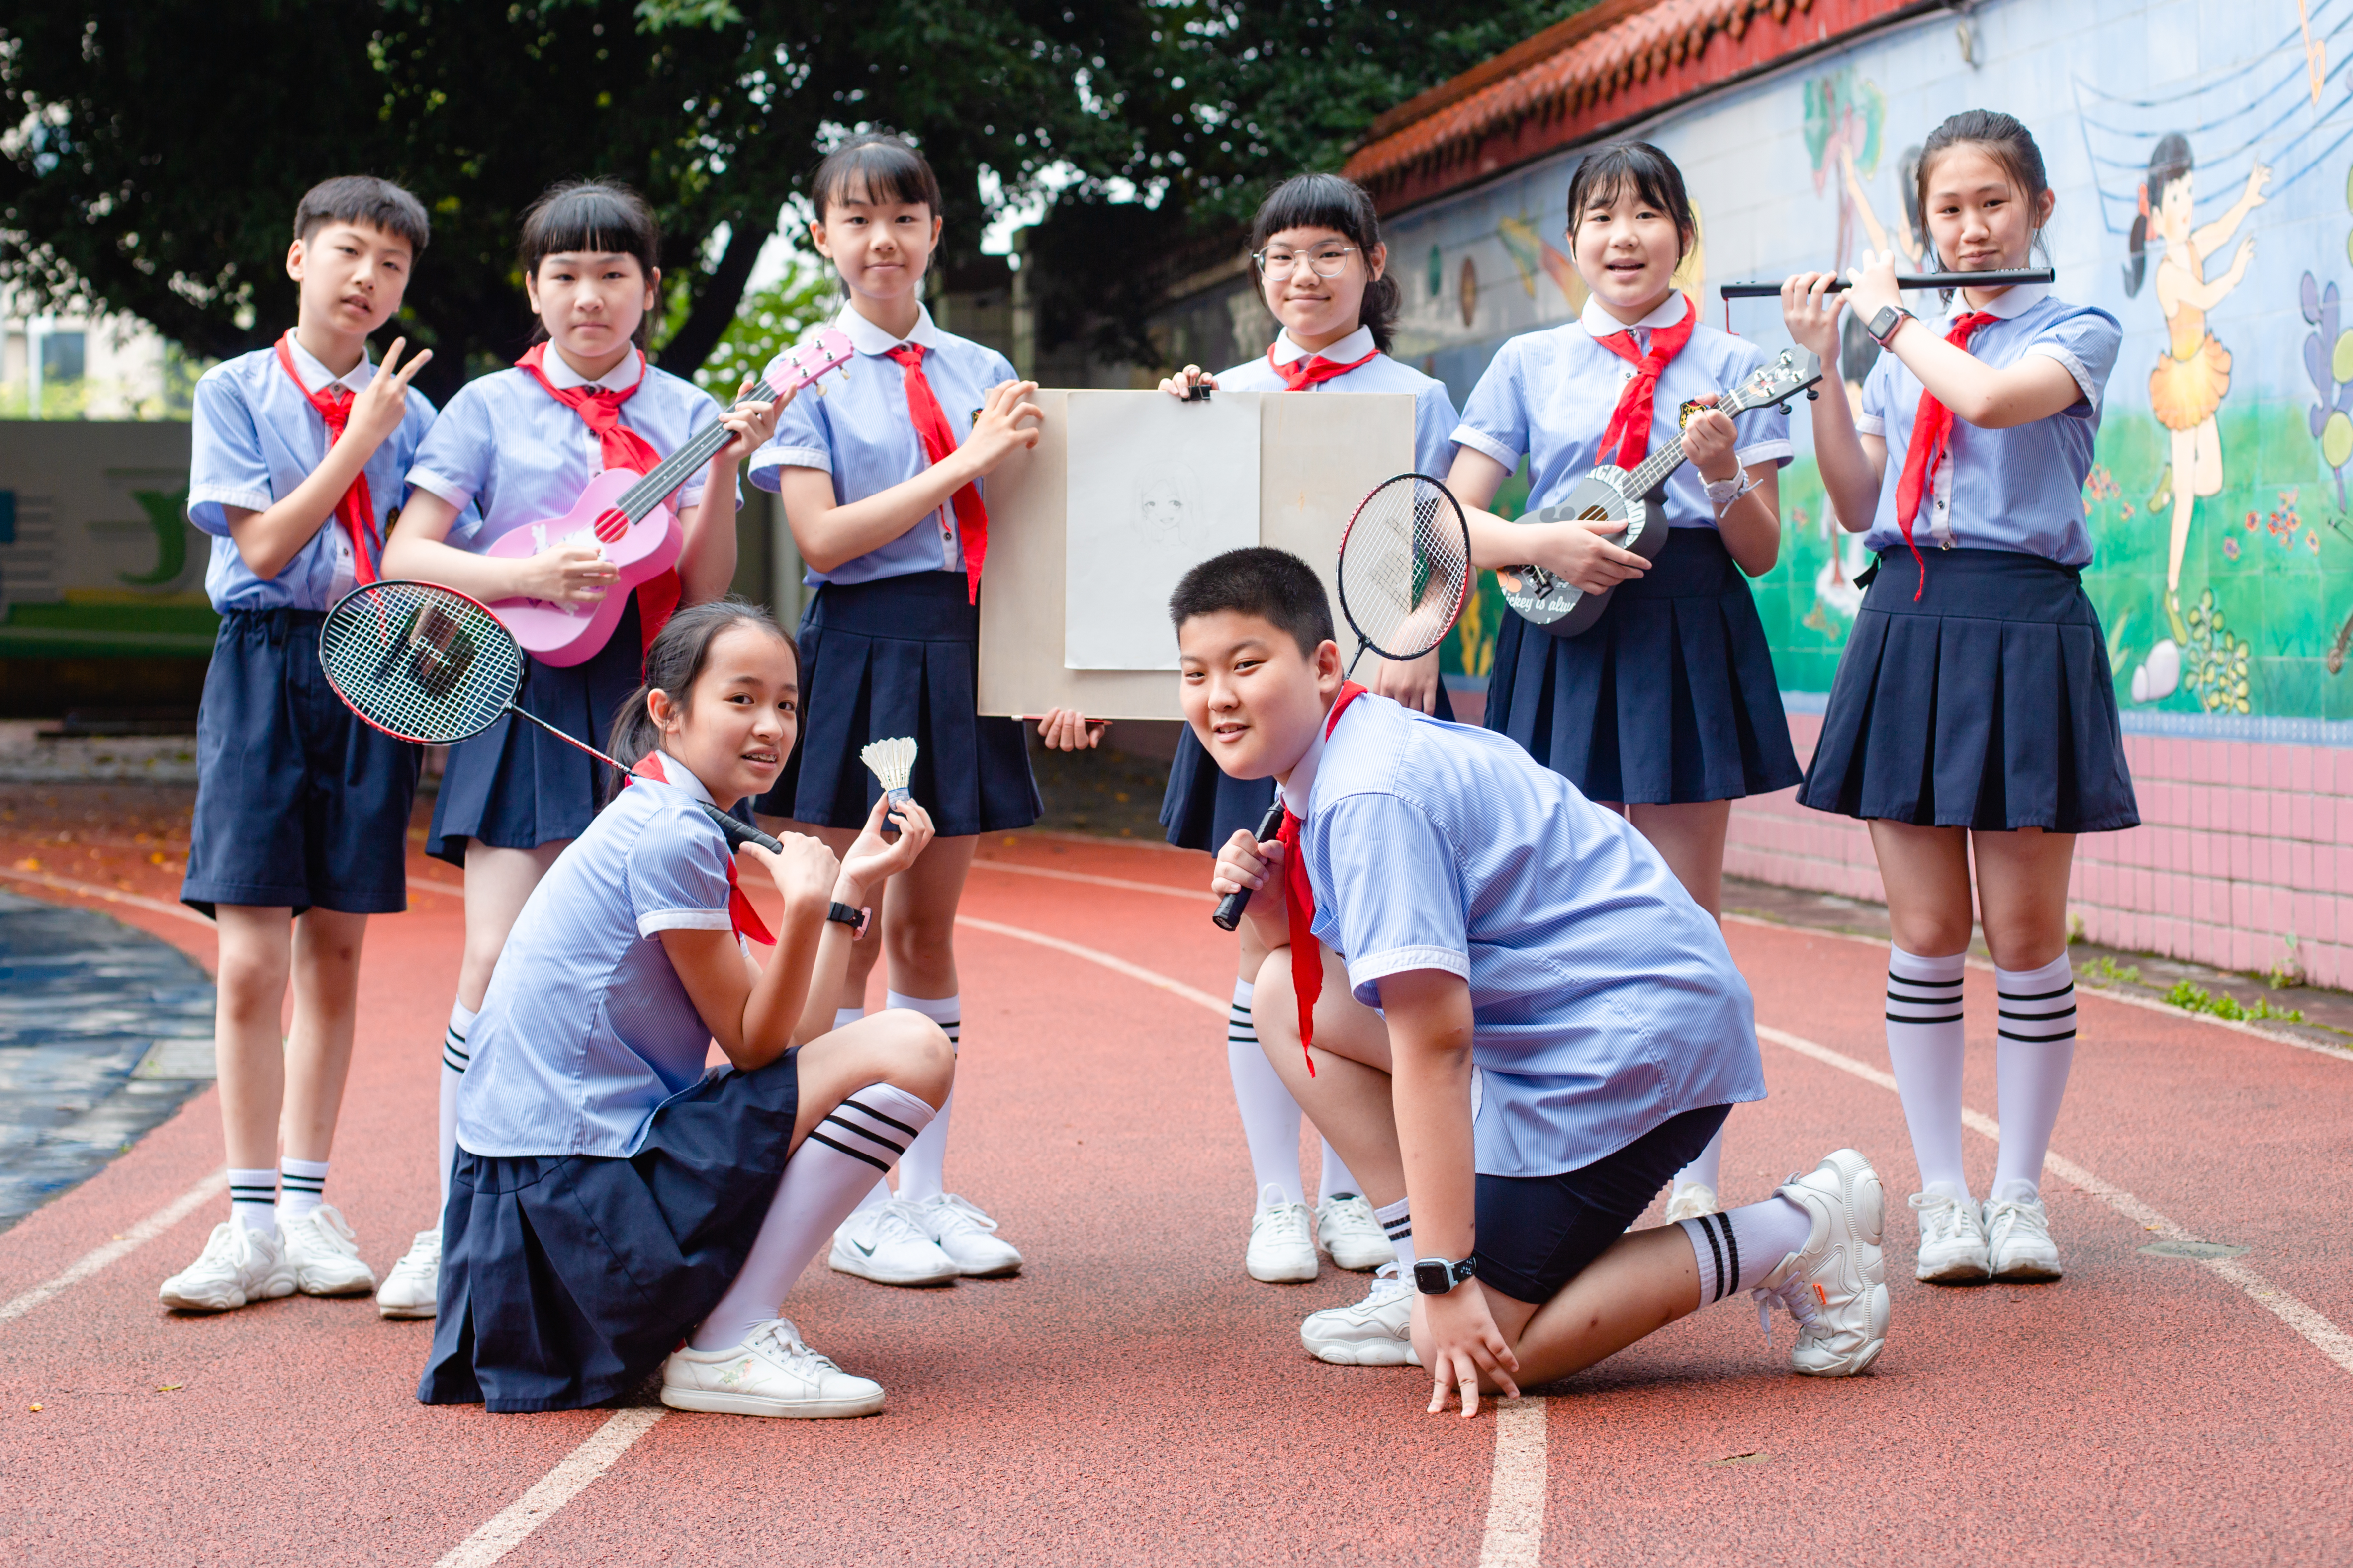
[[[647,649],[609,743],[635,778],[532,891],[482,999],[424,1403],[574,1410],[659,1366],[680,1410],[882,1408],[776,1302],[955,1084],[922,1013],[828,1032],[849,943],[932,818],[885,797],[838,865],[809,837],[746,846],[784,896],[767,933],[704,802],[776,783],[798,665],[741,599]],[[776,943],[767,969],[744,936]],[[732,1067],[706,1074],[713,1039]]]

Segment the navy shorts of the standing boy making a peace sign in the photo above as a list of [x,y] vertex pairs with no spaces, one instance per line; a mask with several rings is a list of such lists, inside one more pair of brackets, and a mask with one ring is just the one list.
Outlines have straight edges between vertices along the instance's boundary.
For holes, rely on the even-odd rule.
[[362,724],[318,668],[315,609],[221,616],[195,715],[179,900],[398,914],[424,752]]

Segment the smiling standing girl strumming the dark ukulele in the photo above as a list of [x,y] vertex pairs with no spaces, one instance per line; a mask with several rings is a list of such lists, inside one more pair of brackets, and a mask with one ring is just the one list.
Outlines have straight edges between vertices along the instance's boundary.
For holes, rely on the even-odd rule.
[[[1504,616],[1487,672],[1499,729],[1588,799],[1626,809],[1682,889],[1722,917],[1732,802],[1798,783],[1781,686],[1751,576],[1781,552],[1779,468],[1788,416],[1708,407],[1765,364],[1753,343],[1699,320],[1673,284],[1699,240],[1675,162],[1647,141],[1593,148],[1569,176],[1569,254],[1591,296],[1574,322],[1518,336],[1471,390],[1452,489],[1485,508],[1527,456],[1527,510],[1560,501],[1598,463],[1633,468],[1678,437],[1692,461],[1666,482],[1666,552],[1647,564],[1584,522],[1471,515],[1471,559],[1534,562],[1614,590],[1600,621],[1555,637]],[[1607,531],[1607,529],[1605,529]],[[1675,1175],[1666,1218],[1715,1213],[1722,1133]]]

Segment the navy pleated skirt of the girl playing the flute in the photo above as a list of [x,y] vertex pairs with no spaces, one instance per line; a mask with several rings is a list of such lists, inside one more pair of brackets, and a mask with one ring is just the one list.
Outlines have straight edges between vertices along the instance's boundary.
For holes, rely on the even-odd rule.
[[1798,799],[1915,827],[2139,825],[2082,574],[2017,550],[1925,555],[1925,585],[1908,555],[1880,557]]

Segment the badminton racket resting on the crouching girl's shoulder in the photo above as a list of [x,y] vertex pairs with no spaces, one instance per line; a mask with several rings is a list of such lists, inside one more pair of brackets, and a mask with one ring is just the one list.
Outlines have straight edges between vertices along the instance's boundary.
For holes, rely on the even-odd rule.
[[[605,752],[515,705],[522,644],[487,604],[449,588],[398,578],[353,588],[320,625],[318,663],[344,708],[395,741],[449,745],[515,715],[628,778]],[[744,844],[784,851],[711,802],[701,806],[727,835],[729,853]]]

